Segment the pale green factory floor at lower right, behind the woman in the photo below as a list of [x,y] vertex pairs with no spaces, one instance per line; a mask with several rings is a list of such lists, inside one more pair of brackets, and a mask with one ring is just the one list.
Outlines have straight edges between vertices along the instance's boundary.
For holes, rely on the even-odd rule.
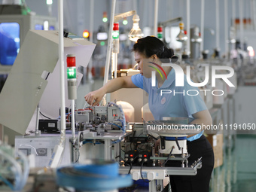
[[210,192],[254,192],[256,135],[233,135],[224,139],[224,163],[212,173]]

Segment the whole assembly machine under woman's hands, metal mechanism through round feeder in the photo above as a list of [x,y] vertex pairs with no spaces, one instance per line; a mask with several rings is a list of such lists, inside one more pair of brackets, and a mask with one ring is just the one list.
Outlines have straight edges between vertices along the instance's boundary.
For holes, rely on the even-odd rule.
[[[126,123],[122,108],[114,102],[77,110],[78,134],[72,161],[84,162],[82,153],[91,153],[87,158],[93,157],[96,151],[91,148],[101,145],[105,160],[116,160],[120,173],[130,173],[133,180],[149,183],[150,191],[163,190],[167,175],[196,175],[202,165],[201,158],[188,161],[186,136],[201,130],[187,122],[186,118],[176,118]],[[83,151],[82,146],[87,144],[90,150]],[[178,161],[180,166],[166,166],[169,161]]]

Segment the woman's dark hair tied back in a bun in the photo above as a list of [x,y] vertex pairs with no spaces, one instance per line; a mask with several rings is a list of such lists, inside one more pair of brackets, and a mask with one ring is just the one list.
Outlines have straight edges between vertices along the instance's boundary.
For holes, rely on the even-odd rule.
[[145,54],[147,58],[154,54],[160,59],[169,59],[174,56],[172,49],[167,48],[159,38],[152,36],[139,38],[136,44],[133,45],[133,51]]

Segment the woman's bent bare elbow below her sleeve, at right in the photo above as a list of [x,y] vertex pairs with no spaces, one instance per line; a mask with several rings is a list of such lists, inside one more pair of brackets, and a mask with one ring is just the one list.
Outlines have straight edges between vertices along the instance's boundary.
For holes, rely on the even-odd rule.
[[195,114],[192,114],[194,120],[190,122],[191,124],[198,125],[212,125],[212,117],[208,110],[199,111]]

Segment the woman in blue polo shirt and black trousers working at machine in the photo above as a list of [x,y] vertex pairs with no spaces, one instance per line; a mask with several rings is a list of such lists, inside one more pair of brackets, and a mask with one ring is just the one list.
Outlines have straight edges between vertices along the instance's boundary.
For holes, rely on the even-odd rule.
[[[172,49],[168,49],[158,38],[148,36],[140,38],[134,44],[133,51],[140,74],[115,78],[99,90],[88,93],[84,98],[90,105],[97,105],[105,93],[111,93],[120,88],[139,87],[148,93],[148,105],[155,120],[162,120],[162,117],[189,117],[192,124],[210,125],[212,123],[212,117],[200,95],[186,94],[187,90],[197,90],[197,87],[187,84],[186,77],[184,77],[184,87],[175,87],[175,70],[172,67],[162,66],[166,78],[156,73],[155,85],[152,85],[151,72],[155,70],[153,67],[169,62],[169,59],[174,56]],[[161,90],[172,90],[172,94],[161,94]],[[174,91],[179,94],[174,95]],[[203,136],[203,131],[187,136],[187,151],[190,154],[189,162],[194,163],[202,157],[203,166],[194,176],[170,176],[172,192],[209,191],[214,155],[212,146]]]

